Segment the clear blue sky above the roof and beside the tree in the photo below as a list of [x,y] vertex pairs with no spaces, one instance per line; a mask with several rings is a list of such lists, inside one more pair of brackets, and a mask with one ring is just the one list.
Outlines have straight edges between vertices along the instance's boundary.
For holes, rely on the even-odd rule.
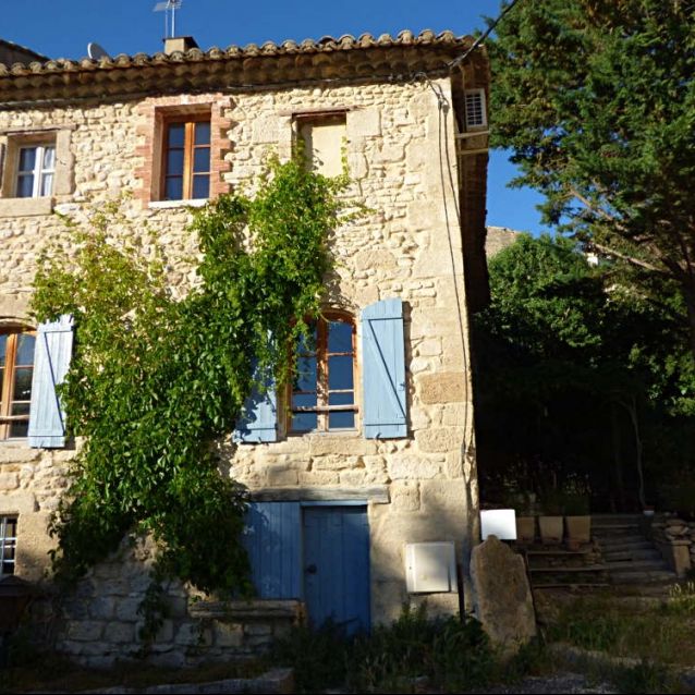
[[[111,54],[155,53],[164,36],[164,14],[156,0],[0,0],[0,37],[50,58],[83,58],[97,41]],[[244,46],[267,40],[302,40],[342,34],[395,35],[401,29],[484,29],[483,15],[497,16],[499,0],[183,0],[176,34],[193,36],[200,48]],[[488,224],[538,232],[539,196],[505,187],[514,168],[504,153],[491,153]]]

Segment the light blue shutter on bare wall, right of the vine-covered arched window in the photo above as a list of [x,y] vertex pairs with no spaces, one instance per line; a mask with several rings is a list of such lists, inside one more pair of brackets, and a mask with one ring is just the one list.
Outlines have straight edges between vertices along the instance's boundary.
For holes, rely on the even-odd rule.
[[362,312],[363,423],[367,439],[407,436],[403,303],[382,300]]

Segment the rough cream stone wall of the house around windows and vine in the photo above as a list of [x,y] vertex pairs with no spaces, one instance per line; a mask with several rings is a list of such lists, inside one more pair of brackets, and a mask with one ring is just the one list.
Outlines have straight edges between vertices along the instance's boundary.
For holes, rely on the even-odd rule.
[[[460,53],[464,45],[454,42],[450,54]],[[405,49],[403,56],[407,56]],[[459,219],[464,223],[472,217],[462,204],[461,187],[453,183],[461,184],[458,162],[465,159],[455,138],[464,117],[450,106],[456,103],[464,77],[485,87],[487,69],[478,65],[477,72],[466,69],[454,74],[440,70],[426,80],[363,78],[357,83],[349,77],[341,81],[338,58],[318,58],[325,71],[337,63],[332,81],[240,87],[233,94],[220,94],[218,82],[208,76],[195,90],[172,88],[174,94],[166,97],[153,89],[145,98],[123,94],[71,102],[63,96],[47,105],[9,99],[0,110],[0,145],[7,149],[12,138],[40,129],[69,133],[58,156],[64,156],[70,192],[53,196],[53,210],[80,219],[94,206],[132,192],[122,204],[125,218],[133,228],[147,224],[157,230],[166,244],[171,286],[183,295],[195,282],[186,258],[196,246],[185,229],[188,208],[151,200],[157,109],[209,106],[214,194],[252,185],[271,151],[286,158],[295,114],[330,109],[345,113],[351,194],[371,211],[359,223],[334,231],[331,243],[339,263],[336,275],[327,279],[326,306],[356,318],[376,301],[403,301],[407,437],[366,439],[358,425],[350,432],[285,436],[281,431],[277,442],[231,446],[230,464],[231,474],[257,499],[364,501],[370,612],[373,622],[380,622],[395,618],[402,603],[414,598],[405,590],[406,542],[453,540],[456,562],[465,570],[477,537],[464,283],[465,237],[473,231],[464,233],[459,224]],[[182,62],[187,64],[185,57]],[[10,80],[7,74],[0,77]],[[475,176],[483,176],[476,191],[484,196],[487,158],[480,159],[477,145],[477,164],[466,161]],[[31,326],[27,306],[36,259],[50,244],[69,243],[69,237],[58,217],[40,207],[16,204],[17,199],[0,200],[0,321]],[[484,210],[484,200],[476,205],[476,210]],[[359,369],[359,354],[356,359]],[[356,390],[361,403],[358,383]],[[20,576],[40,580],[47,570],[51,540],[46,524],[65,489],[71,453],[70,449],[31,449],[21,440],[0,441],[0,514],[19,515]],[[124,562],[121,556],[96,568],[73,597],[76,600],[68,601],[66,622],[60,629],[65,651],[97,663],[132,648],[138,621],[135,602],[144,575],[131,566],[133,562]],[[459,598],[456,593],[444,593],[430,596],[430,603],[456,611]],[[193,643],[184,639],[186,630],[197,630],[203,637],[196,633],[196,645],[206,645],[210,654],[222,646],[243,653],[254,641],[267,641],[288,620],[286,612],[275,622],[269,618],[223,623],[208,617],[206,624],[212,625],[208,630],[198,615],[194,630],[184,589],[173,587],[171,600],[178,608],[173,622],[166,623],[157,639],[156,653],[162,655],[160,661],[172,663],[191,663],[196,658]]]

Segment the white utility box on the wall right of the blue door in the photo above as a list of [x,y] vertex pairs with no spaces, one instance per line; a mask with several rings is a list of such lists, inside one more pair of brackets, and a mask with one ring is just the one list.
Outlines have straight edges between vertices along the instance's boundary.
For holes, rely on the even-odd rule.
[[458,592],[456,554],[451,540],[405,546],[405,585],[409,594]]

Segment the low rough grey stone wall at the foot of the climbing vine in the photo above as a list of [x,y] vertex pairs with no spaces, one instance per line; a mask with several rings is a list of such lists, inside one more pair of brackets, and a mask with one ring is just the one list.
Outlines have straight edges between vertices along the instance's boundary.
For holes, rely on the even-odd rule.
[[171,581],[163,587],[162,625],[145,645],[139,606],[150,583],[153,552],[147,541],[123,545],[61,597],[53,639],[58,653],[89,668],[130,659],[193,667],[258,654],[301,618],[300,601],[210,601]]

